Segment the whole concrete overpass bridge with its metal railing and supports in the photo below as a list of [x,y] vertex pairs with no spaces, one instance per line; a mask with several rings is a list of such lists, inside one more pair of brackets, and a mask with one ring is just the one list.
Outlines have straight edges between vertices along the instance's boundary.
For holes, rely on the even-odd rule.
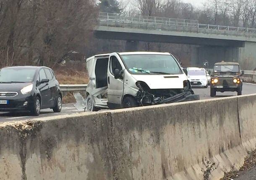
[[256,29],[199,24],[197,20],[99,13],[96,38],[125,40],[127,51],[137,51],[138,41],[196,45],[191,63],[237,61],[256,67]]

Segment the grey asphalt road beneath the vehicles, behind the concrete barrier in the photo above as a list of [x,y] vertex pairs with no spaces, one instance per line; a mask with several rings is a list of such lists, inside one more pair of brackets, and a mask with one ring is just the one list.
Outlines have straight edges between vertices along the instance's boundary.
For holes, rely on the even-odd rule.
[[[200,94],[200,99],[212,99],[210,96],[210,88],[194,88],[193,89],[195,94]],[[243,84],[243,94],[256,94],[256,84]],[[217,92],[218,97],[227,97],[227,96],[236,96],[237,93],[235,92],[224,92],[220,93]],[[60,114],[73,114],[73,113],[79,113],[83,111],[78,111],[73,104],[64,104],[63,109],[60,113],[53,113],[52,109],[43,109],[41,110],[41,114],[39,117],[50,117],[50,116],[56,116]],[[0,122],[6,122],[6,121],[14,121],[14,120],[25,120],[25,119],[31,119],[33,116],[29,116],[27,113],[8,113],[8,112],[0,112]]]

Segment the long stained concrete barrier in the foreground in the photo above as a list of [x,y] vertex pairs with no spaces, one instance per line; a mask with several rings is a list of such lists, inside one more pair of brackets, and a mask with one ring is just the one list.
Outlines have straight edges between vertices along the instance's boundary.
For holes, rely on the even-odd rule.
[[202,180],[255,147],[256,95],[0,124],[0,179]]

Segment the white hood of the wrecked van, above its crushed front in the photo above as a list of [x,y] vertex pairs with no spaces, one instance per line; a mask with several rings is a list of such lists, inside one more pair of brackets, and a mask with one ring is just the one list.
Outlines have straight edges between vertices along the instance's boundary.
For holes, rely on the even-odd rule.
[[150,89],[183,89],[185,74],[177,75],[132,75],[136,81],[144,81]]

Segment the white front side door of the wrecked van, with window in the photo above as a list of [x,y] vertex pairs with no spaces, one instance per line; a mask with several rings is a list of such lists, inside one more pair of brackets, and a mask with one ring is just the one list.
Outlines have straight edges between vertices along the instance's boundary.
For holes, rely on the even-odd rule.
[[[123,62],[117,53],[112,53],[109,56],[109,64],[107,69],[107,105],[111,109],[120,108],[122,106],[123,83],[125,69]],[[119,72],[119,76],[115,76],[115,72]]]

